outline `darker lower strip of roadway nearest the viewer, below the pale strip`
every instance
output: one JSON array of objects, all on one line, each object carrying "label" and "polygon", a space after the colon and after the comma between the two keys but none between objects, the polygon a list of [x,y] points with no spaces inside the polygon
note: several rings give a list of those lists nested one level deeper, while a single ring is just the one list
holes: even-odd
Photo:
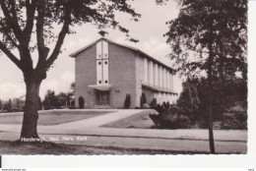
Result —
[{"label": "darker lower strip of roadway nearest the viewer, below the pale strip", "polygon": [[[1,133],[0,140],[17,141],[20,137],[18,133]],[[51,139],[59,140],[56,143],[78,144],[88,146],[112,146],[120,148],[133,149],[153,149],[153,150],[169,150],[179,152],[209,152],[208,141],[195,140],[168,140],[168,139],[153,139],[153,138],[129,138],[129,137],[104,137],[104,136],[71,136],[71,135],[41,135],[45,141]],[[86,138],[86,139],[84,139]],[[84,139],[82,141],[78,141]],[[51,141],[50,141],[51,142]],[[246,142],[215,142],[216,152],[218,153],[246,153]]]}]

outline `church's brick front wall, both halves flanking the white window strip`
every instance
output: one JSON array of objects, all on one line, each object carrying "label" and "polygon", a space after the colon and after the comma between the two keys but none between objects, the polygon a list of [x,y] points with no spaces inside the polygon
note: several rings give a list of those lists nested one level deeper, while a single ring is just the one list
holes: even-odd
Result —
[{"label": "church's brick front wall, both halves flanking the white window strip", "polygon": [[[126,93],[131,95],[131,108],[136,104],[135,54],[132,50],[108,43],[108,72],[110,88],[110,107],[124,108]],[[96,90],[88,85],[96,85],[96,44],[76,57],[76,107],[78,98],[83,96],[86,108],[94,108]]]}]

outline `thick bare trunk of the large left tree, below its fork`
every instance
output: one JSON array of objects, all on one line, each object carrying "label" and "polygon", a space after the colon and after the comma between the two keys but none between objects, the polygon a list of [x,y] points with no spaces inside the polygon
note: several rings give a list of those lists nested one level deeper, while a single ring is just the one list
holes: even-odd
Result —
[{"label": "thick bare trunk of the large left tree, below its fork", "polygon": [[38,100],[39,100],[39,86],[41,81],[37,79],[30,79],[26,82],[27,93],[25,102],[25,111],[22,126],[22,139],[37,139],[37,120],[38,120]]}]

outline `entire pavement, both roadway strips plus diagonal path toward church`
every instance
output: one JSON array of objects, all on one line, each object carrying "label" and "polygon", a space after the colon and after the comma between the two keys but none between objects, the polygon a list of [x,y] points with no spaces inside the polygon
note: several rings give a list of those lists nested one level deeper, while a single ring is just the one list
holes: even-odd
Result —
[{"label": "entire pavement, both roadway strips plus diagonal path toward church", "polygon": [[[61,143],[92,146],[117,146],[123,148],[162,149],[175,151],[209,151],[208,130],[155,130],[102,128],[101,125],[136,115],[142,110],[117,110],[112,113],[80,121],[38,126],[40,137],[58,137]],[[1,133],[2,132],[2,133]],[[0,124],[0,140],[18,140],[21,126]],[[12,134],[10,134],[12,133]],[[67,141],[63,137],[76,140],[86,136],[87,141]],[[246,153],[247,131],[215,130],[217,152]]]}]

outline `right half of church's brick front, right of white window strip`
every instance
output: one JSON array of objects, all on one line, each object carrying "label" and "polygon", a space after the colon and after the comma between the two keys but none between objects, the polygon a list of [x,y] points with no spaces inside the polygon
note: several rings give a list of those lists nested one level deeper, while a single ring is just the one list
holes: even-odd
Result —
[{"label": "right half of church's brick front, right of white window strip", "polygon": [[112,43],[108,44],[110,105],[124,108],[126,93],[131,95],[131,108],[135,107],[135,54],[132,50]]}]

